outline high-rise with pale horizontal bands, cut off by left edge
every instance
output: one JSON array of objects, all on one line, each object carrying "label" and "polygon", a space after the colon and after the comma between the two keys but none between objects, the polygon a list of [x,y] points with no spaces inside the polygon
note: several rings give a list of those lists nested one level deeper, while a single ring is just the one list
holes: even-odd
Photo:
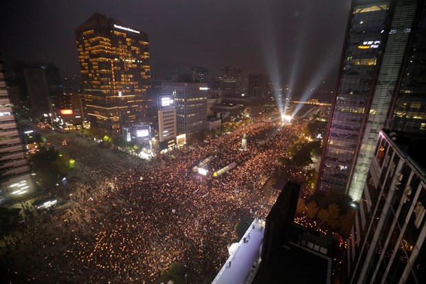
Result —
[{"label": "high-rise with pale horizontal bands, cut off by left edge", "polygon": [[12,107],[0,58],[0,203],[34,192],[30,165]]}]

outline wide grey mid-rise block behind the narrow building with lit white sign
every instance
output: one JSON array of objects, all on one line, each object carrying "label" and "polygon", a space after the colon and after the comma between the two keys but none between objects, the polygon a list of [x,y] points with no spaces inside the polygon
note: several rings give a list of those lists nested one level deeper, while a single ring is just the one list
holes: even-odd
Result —
[{"label": "wide grey mid-rise block behind the narrow building with lit white sign", "polygon": [[201,133],[207,125],[207,92],[205,83],[164,82],[165,96],[175,98],[177,134]]}]

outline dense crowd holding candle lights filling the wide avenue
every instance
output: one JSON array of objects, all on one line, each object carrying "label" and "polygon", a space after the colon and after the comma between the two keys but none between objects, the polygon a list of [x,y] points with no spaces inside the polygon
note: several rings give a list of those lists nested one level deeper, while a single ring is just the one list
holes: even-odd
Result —
[{"label": "dense crowd holding candle lights filling the wide avenue", "polygon": [[[181,262],[188,283],[199,283],[227,259],[227,247],[237,241],[238,221],[267,216],[271,204],[259,189],[301,132],[299,124],[278,127],[258,121],[195,149],[129,168],[98,182],[97,188],[81,186],[74,213],[28,230],[33,247],[25,258],[34,270],[29,278],[152,283],[172,263]],[[247,150],[240,151],[244,133]],[[232,162],[238,166],[221,177],[192,171],[210,156],[214,171]],[[289,174],[301,178],[297,172]],[[55,223],[58,219],[63,223]],[[56,224],[53,230],[49,222]]]}]

